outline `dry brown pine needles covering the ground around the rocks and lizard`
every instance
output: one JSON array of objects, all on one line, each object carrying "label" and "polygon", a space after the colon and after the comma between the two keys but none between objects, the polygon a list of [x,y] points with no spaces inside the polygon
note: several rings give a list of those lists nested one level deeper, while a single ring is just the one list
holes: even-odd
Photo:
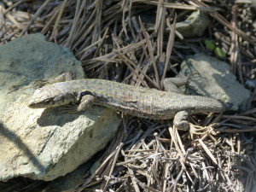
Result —
[{"label": "dry brown pine needles covering the ground around the rocks and lizard", "polygon": [[[0,44],[41,32],[49,41],[71,49],[90,78],[161,90],[166,74],[177,74],[181,61],[195,50],[207,52],[202,42],[211,39],[227,52],[224,59],[242,84],[255,79],[256,28],[245,3],[3,2],[9,6],[4,9],[0,4]],[[203,38],[183,38],[175,32],[175,23],[196,9],[211,16],[211,26]],[[154,31],[149,32],[146,23],[152,15]],[[166,28],[171,32],[166,33]],[[171,121],[124,117],[119,135],[97,159],[101,166],[93,175],[84,173],[84,184],[76,190],[251,190],[256,171],[256,89],[248,88],[252,96],[246,112],[190,117],[189,132],[173,129]],[[17,186],[17,190],[26,191],[28,184]],[[30,189],[37,187],[30,183]]]}]

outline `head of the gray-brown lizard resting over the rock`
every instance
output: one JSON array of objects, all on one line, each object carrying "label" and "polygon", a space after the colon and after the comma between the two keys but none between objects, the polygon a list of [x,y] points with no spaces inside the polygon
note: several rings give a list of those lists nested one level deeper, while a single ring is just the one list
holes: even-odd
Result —
[{"label": "head of the gray-brown lizard resting over the rock", "polygon": [[51,85],[46,85],[35,90],[31,101],[28,103],[28,107],[54,108],[74,101],[76,101],[76,97],[73,93],[63,92],[61,90],[54,89]]}]

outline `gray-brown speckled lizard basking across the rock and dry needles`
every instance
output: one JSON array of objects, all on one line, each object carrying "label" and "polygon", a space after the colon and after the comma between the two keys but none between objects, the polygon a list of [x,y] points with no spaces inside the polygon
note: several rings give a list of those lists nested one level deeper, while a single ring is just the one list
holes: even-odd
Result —
[{"label": "gray-brown speckled lizard basking across the rock and dry needles", "polygon": [[136,87],[104,79],[77,79],[47,84],[35,90],[28,107],[53,108],[70,103],[78,105],[77,112],[96,104],[141,118],[174,118],[175,125],[182,130],[189,129],[186,120],[188,114],[221,113],[230,108],[230,103],[211,97]]}]

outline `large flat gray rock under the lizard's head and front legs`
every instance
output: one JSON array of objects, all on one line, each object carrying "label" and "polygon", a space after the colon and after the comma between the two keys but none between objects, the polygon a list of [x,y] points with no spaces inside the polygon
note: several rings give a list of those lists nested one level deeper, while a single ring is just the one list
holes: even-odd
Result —
[{"label": "large flat gray rock under the lizard's head and front legs", "polygon": [[45,181],[64,176],[104,148],[120,119],[108,108],[93,106],[84,113],[61,108],[27,107],[36,79],[83,69],[72,53],[40,34],[0,46],[0,180],[30,177]]}]

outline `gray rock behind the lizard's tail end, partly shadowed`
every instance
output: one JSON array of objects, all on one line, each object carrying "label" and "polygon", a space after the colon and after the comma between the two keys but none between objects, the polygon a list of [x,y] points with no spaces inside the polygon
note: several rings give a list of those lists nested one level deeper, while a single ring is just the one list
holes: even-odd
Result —
[{"label": "gray rock behind the lizard's tail end, partly shadowed", "polygon": [[[188,87],[196,95],[210,96],[223,102],[231,102],[232,109],[244,109],[251,94],[230,73],[230,66],[215,57],[196,54],[182,63],[181,73],[189,76]],[[191,93],[191,92],[190,92]]]}]

